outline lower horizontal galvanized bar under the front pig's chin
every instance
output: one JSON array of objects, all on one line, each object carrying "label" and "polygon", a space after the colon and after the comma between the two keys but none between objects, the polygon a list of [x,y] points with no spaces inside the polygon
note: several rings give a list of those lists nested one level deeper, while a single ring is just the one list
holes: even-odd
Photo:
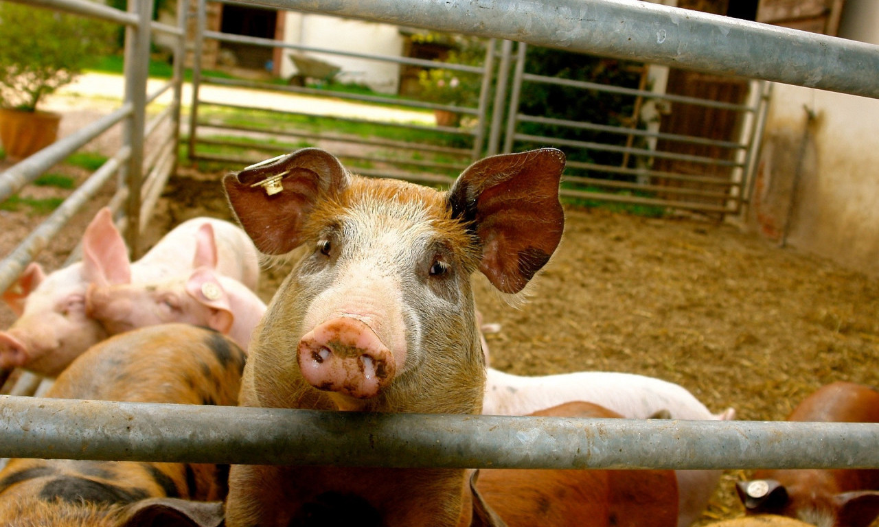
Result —
[{"label": "lower horizontal galvanized bar under the front pig's chin", "polygon": [[[710,438],[710,440],[708,439]],[[492,468],[879,467],[879,423],[319,412],[0,396],[0,456]]]}]

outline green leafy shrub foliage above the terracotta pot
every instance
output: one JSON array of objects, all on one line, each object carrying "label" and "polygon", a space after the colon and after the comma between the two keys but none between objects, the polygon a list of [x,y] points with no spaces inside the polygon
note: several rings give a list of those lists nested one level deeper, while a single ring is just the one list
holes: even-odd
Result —
[{"label": "green leafy shrub foliage above the terracotta pot", "polygon": [[0,105],[33,112],[109,49],[113,25],[28,4],[0,2]]}]

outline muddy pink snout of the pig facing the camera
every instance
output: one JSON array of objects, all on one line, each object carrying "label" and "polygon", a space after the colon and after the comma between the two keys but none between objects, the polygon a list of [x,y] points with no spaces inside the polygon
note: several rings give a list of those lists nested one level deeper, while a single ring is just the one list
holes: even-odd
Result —
[{"label": "muddy pink snout of the pig facing the camera", "polygon": [[299,341],[299,368],[311,386],[368,399],[396,372],[391,351],[365,322],[350,317],[325,321]]}]

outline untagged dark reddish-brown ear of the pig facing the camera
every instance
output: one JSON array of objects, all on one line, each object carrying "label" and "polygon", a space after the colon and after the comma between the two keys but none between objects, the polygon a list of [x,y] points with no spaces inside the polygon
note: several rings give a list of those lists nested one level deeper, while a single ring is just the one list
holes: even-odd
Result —
[{"label": "untagged dark reddish-brown ear of the pig facing the camera", "polygon": [[521,291],[562,239],[563,170],[564,154],[556,148],[492,155],[465,169],[449,191],[453,216],[482,245],[479,271],[500,292]]}]

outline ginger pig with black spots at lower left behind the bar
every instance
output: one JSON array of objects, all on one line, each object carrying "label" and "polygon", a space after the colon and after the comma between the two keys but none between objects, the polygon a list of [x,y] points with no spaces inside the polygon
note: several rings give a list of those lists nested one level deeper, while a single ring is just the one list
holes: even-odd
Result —
[{"label": "ginger pig with black spots at lower left behind the bar", "polygon": [[[215,331],[143,328],[92,347],[46,396],[234,406],[243,366],[243,351]],[[11,459],[0,471],[0,525],[214,527],[189,518],[222,516],[227,476],[228,466],[207,464]]]}]

